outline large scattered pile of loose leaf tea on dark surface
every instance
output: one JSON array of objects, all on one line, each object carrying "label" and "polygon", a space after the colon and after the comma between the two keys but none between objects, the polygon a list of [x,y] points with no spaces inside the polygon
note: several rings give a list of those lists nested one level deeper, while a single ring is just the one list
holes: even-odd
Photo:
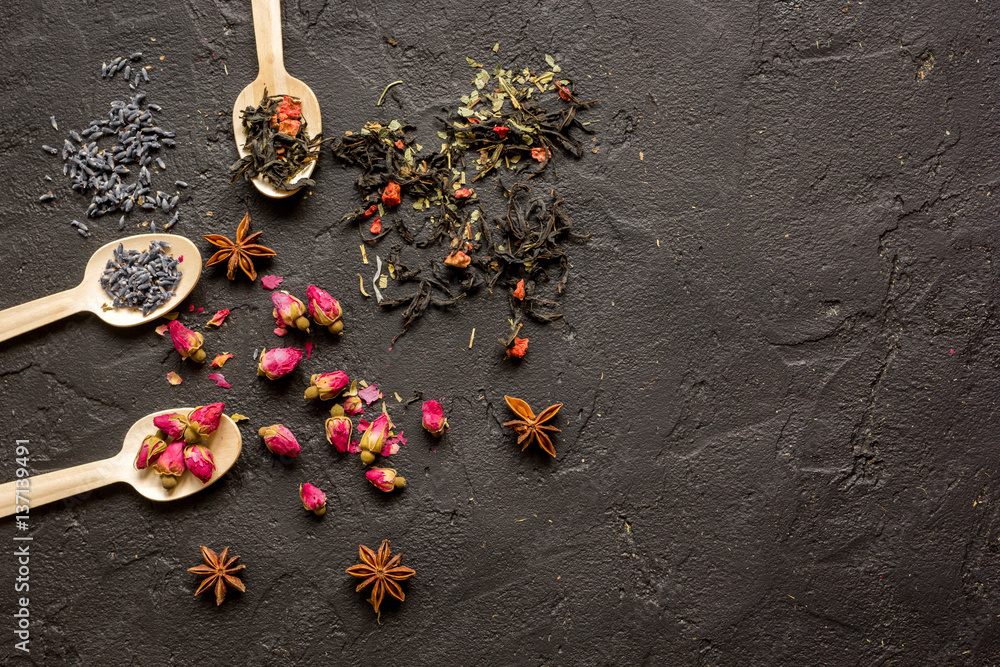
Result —
[{"label": "large scattered pile of loose leaf tea on dark surface", "polygon": [[[529,186],[527,181],[543,176],[550,165],[554,173],[560,153],[583,156],[576,135],[590,130],[578,114],[594,102],[577,99],[572,83],[557,79],[560,69],[551,56],[546,60],[550,70],[538,74],[499,66],[490,73],[470,59],[477,70],[474,89],[439,118],[437,135],[443,143],[437,151],[424,153],[414,138],[416,128],[397,120],[345,132],[333,146],[335,157],[361,170],[355,184],[363,206],[342,220],[357,224],[365,243],[392,231],[402,241],[386,254],[388,273],[414,289],[386,299],[376,291],[381,306],[404,306],[400,335],[428,307],[454,304],[483,285],[510,290],[511,328],[500,339],[509,356],[523,356],[527,349],[527,339],[517,338],[524,316],[539,322],[561,317],[553,310],[556,302],[540,292],[555,279],[552,297],[562,293],[570,264],[561,243],[588,237],[572,231],[563,201],[551,186]],[[470,167],[477,172],[471,177]],[[501,169],[520,180],[507,189]],[[487,175],[507,199],[502,215],[490,217],[470,187]],[[415,228],[401,215],[392,224],[383,221],[404,197],[412,200],[413,210],[424,213]],[[377,256],[379,267],[381,259]],[[375,278],[382,278],[385,289],[387,281],[380,274],[381,268]]]}]

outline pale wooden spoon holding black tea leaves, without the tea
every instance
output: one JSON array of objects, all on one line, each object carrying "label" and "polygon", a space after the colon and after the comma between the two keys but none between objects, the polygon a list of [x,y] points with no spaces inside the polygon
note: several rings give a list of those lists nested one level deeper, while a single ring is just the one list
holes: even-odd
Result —
[{"label": "pale wooden spoon holding black tea leaves, without the tea", "polygon": [[[281,47],[280,0],[253,0],[253,30],[257,37],[257,78],[243,89],[233,105],[233,133],[236,135],[236,148],[241,157],[248,155],[249,151],[245,149],[246,135],[243,133],[240,113],[247,107],[256,108],[264,97],[265,88],[268,95],[290,95],[301,99],[302,117],[308,124],[309,136],[315,137],[323,131],[319,101],[315,93],[305,83],[285,71],[284,53]],[[289,183],[294,185],[303,178],[309,178],[315,166],[316,160],[313,160],[293,176]],[[261,176],[253,179],[253,184],[261,194],[276,199],[290,197],[300,189],[279,190]]]}]

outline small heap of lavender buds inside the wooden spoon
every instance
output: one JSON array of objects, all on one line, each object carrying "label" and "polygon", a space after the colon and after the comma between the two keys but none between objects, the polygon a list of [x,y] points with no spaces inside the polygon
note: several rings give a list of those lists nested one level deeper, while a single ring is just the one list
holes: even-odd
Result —
[{"label": "small heap of lavender buds inside the wooden spoon", "polygon": [[139,252],[118,244],[101,275],[101,287],[115,308],[142,310],[145,317],[176,293],[181,272],[178,261],[164,252],[169,247],[166,241],[153,241]]}]

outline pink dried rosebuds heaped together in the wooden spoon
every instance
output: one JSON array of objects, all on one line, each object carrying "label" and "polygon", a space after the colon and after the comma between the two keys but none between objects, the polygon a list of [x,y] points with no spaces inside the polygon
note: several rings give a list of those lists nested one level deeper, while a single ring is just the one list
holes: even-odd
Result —
[{"label": "pink dried rosebuds heaped together in the wooden spoon", "polygon": [[152,468],[165,489],[172,489],[184,471],[207,484],[215,459],[205,439],[219,428],[225,403],[200,405],[191,412],[170,412],[153,418],[156,433],[147,435],[135,457],[136,470]]}]

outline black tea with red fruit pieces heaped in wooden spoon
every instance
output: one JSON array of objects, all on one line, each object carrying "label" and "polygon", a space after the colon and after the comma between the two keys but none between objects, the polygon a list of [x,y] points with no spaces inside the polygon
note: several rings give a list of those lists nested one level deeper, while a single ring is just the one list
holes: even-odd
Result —
[{"label": "black tea with red fruit pieces heaped in wooden spoon", "polygon": [[289,183],[316,160],[322,143],[322,135],[309,136],[301,100],[288,95],[269,96],[265,90],[260,104],[247,107],[240,117],[246,135],[244,148],[249,152],[229,168],[234,172],[230,183],[261,176],[279,190],[315,185],[309,178]]}]

